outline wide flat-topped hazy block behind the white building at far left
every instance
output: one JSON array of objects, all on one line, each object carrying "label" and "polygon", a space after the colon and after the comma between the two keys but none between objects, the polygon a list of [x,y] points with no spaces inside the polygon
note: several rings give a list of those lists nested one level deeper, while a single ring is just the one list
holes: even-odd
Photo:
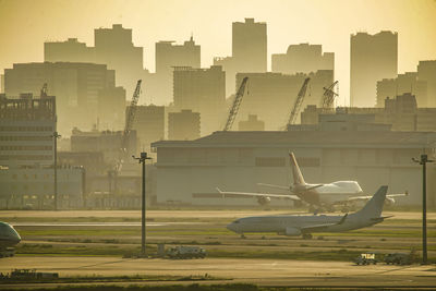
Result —
[{"label": "wide flat-topped hazy block behind the white building at far left", "polygon": [[[97,123],[102,100],[99,93],[114,88],[114,71],[106,64],[74,62],[15,63],[4,70],[4,92],[39,95],[47,83],[48,93],[57,97],[58,130],[65,134],[73,126],[90,129]],[[117,109],[114,109],[117,111]]]}]

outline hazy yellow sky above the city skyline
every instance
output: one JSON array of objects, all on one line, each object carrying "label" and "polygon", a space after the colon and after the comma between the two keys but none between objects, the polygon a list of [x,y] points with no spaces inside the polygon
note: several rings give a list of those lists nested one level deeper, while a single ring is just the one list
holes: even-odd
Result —
[{"label": "hazy yellow sky above the city skyline", "polygon": [[94,46],[94,28],[121,23],[144,47],[144,65],[155,70],[157,40],[182,43],[193,33],[202,65],[231,54],[231,23],[267,23],[270,53],[291,44],[323,45],[336,53],[341,99],[349,96],[350,34],[399,33],[399,72],[436,59],[435,0],[0,0],[0,72],[15,62],[43,61],[45,40],[76,37]]}]

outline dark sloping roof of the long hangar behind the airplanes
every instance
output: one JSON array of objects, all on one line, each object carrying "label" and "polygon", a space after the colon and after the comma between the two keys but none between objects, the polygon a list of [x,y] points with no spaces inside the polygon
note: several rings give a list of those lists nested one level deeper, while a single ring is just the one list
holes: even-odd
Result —
[{"label": "dark sloping roof of the long hangar behind the airplanes", "polygon": [[258,131],[214,132],[194,141],[159,141],[152,147],[434,147],[435,132]]}]

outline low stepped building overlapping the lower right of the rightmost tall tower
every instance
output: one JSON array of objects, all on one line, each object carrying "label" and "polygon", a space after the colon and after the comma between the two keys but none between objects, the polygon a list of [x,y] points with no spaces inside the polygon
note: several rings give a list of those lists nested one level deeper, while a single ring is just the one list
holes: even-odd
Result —
[{"label": "low stepped building overlapping the lower right of the rightmost tall tower", "polygon": [[407,72],[396,78],[384,78],[377,82],[377,107],[385,107],[386,98],[411,93],[416,97],[419,107],[427,105],[427,83],[417,80],[417,73]]}]

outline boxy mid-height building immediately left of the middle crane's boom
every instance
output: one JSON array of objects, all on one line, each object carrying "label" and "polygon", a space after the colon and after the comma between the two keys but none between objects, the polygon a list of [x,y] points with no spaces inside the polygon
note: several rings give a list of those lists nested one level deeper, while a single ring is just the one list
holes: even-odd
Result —
[{"label": "boxy mid-height building immediately left of the middle crane's boom", "polygon": [[220,129],[226,112],[226,73],[210,69],[174,68],[174,109],[190,109],[202,117],[202,135]]}]

